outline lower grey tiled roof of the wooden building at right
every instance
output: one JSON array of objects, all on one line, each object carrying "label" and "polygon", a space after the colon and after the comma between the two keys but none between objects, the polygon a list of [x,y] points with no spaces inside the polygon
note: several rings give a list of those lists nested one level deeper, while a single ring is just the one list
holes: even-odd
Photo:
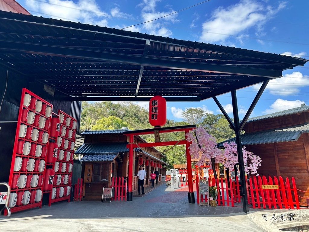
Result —
[{"label": "lower grey tiled roof of the wooden building at right", "polygon": [[[300,125],[295,125],[292,127],[282,127],[273,130],[259,131],[254,133],[245,133],[240,135],[241,143],[243,145],[253,145],[253,144],[269,144],[278,142],[291,142],[297,141],[301,134],[309,133],[309,123],[304,123]],[[223,147],[225,142],[235,142],[236,139],[232,138],[223,141],[218,144],[218,147]]]}]

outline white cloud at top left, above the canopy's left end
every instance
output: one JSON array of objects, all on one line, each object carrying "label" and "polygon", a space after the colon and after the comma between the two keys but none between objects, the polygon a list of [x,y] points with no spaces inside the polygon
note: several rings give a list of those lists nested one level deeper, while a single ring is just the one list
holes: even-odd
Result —
[{"label": "white cloud at top left, above the canopy's left end", "polygon": [[[26,0],[28,11],[40,12],[53,19],[64,19],[84,24],[108,26],[110,15],[100,10],[95,0],[79,0],[76,3],[66,0]],[[40,14],[35,13],[33,14]]]}]

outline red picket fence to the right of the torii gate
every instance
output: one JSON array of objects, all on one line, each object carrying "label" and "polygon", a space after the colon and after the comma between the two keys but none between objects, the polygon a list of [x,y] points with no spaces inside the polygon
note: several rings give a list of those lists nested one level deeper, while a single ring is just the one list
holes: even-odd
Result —
[{"label": "red picket fence to the right of the torii gate", "polygon": [[[231,178],[229,180],[227,178],[209,178],[208,184],[209,186],[217,186],[218,205],[235,206],[234,203],[241,202],[241,186],[237,176],[235,182]],[[262,188],[262,185],[278,185],[278,189],[265,189]],[[246,191],[248,204],[252,204],[253,208],[299,209],[294,177],[292,177],[292,183],[290,184],[289,178],[286,178],[286,181],[284,181],[281,176],[279,176],[279,180],[277,177],[272,179],[269,176],[267,180],[265,176],[254,176],[249,179],[249,185],[248,182],[246,183]],[[197,196],[199,196],[198,183]],[[207,202],[207,200],[206,195],[201,195],[202,202]],[[199,197],[197,197],[197,204],[199,204]]]}]

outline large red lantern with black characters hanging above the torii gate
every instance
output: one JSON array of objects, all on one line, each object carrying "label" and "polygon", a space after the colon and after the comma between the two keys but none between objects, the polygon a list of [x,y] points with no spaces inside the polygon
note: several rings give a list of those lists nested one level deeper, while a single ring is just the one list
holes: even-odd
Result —
[{"label": "large red lantern with black characters hanging above the torii gate", "polygon": [[164,97],[155,96],[149,101],[149,123],[154,127],[162,127],[166,123],[166,101]]}]

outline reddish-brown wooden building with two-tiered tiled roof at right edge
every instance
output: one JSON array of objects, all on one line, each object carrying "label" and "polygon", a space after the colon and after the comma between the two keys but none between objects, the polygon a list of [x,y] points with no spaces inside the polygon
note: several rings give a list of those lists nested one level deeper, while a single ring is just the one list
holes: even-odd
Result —
[{"label": "reddish-brown wooden building with two-tiered tiled roof at right edge", "polygon": [[[309,106],[249,118],[241,142],[261,157],[259,175],[295,178],[299,202],[309,199]],[[227,142],[235,141],[235,138]],[[226,141],[224,141],[226,142]],[[222,143],[224,143],[222,142]],[[222,143],[218,146],[222,146]],[[307,192],[306,192],[307,191]]]}]

